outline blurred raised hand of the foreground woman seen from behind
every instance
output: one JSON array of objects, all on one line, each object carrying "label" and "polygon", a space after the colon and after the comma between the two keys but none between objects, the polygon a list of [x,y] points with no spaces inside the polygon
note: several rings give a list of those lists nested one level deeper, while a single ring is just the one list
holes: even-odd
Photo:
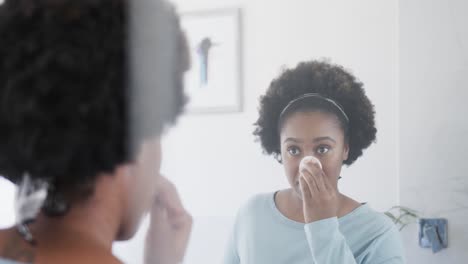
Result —
[{"label": "blurred raised hand of the foreground woman seen from behind", "polygon": [[150,215],[145,263],[182,263],[192,230],[192,217],[184,209],[174,184],[163,176],[160,176]]}]

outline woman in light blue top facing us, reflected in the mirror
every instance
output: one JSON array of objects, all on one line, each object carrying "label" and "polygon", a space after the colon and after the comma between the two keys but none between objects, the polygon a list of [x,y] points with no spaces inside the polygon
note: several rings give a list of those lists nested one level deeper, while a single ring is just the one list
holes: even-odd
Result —
[{"label": "woman in light blue top facing us, reflected in the mirror", "polygon": [[254,134],[291,188],[241,208],[225,264],[404,263],[393,223],[337,187],[343,164],[376,134],[374,107],[355,77],[320,61],[286,70],[261,98]]}]

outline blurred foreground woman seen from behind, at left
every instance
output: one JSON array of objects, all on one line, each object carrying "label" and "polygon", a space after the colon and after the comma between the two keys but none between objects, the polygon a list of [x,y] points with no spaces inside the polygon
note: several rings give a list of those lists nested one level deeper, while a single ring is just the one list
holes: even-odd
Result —
[{"label": "blurred foreground woman seen from behind, at left", "polygon": [[149,210],[147,262],[182,259],[191,218],[158,171],[160,134],[184,104],[187,51],[173,9],[159,3],[176,29],[162,37],[185,55],[171,58],[175,85],[158,86],[175,103],[130,139],[127,3],[0,5],[0,174],[21,190],[17,225],[0,230],[0,263],[120,263],[112,242],[132,237]]}]

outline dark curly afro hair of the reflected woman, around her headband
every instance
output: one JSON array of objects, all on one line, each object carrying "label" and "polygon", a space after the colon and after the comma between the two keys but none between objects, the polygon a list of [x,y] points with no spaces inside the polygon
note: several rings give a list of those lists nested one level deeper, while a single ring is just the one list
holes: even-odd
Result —
[{"label": "dark curly afro hair of the reflected woman, around her headband", "polygon": [[[349,118],[347,122],[337,107],[329,104],[314,104],[303,100],[280,114],[292,100],[307,94],[318,93],[337,102]],[[274,79],[260,98],[259,118],[255,123],[254,135],[260,141],[266,154],[281,160],[280,129],[282,121],[294,112],[325,111],[335,114],[343,128],[349,144],[348,159],[343,163],[351,165],[376,140],[375,110],[367,98],[363,84],[342,66],[326,61],[299,63],[287,69]],[[281,161],[280,161],[281,162]]]}]

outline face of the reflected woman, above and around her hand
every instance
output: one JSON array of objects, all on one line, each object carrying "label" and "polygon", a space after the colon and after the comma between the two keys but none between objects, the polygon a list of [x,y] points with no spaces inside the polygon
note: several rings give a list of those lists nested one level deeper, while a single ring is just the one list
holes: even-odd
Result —
[{"label": "face of the reflected woman, above and around her hand", "polygon": [[349,147],[338,118],[324,112],[296,112],[283,123],[280,131],[281,158],[288,182],[302,198],[299,188],[299,163],[305,156],[314,156],[335,185]]}]

